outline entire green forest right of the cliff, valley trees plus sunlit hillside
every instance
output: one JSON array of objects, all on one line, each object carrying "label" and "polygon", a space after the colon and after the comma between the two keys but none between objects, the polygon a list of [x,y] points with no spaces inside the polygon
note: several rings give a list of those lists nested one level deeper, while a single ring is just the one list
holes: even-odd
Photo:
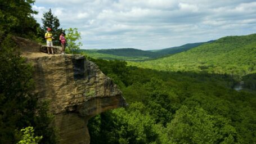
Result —
[{"label": "entire green forest right of the cliff, valley trees plus sunlit hillside", "polygon": [[256,143],[255,42],[224,37],[128,65],[92,59],[129,104],[91,120],[92,143]]}]

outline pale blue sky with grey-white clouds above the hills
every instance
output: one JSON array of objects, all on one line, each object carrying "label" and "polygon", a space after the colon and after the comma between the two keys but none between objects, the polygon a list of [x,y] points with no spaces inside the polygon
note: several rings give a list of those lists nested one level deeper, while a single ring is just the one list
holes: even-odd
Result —
[{"label": "pale blue sky with grey-white clouds above the hills", "polygon": [[60,28],[78,28],[81,49],[158,50],[256,33],[255,0],[36,0],[41,25],[50,8]]}]

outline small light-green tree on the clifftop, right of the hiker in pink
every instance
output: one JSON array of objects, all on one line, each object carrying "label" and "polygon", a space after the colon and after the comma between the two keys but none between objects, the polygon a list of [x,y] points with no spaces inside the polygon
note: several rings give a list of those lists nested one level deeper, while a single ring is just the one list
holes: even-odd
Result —
[{"label": "small light-green tree on the clifftop, right of the hiker in pink", "polygon": [[83,44],[81,42],[77,42],[81,39],[81,33],[78,32],[77,28],[69,28],[66,29],[66,52],[73,52],[73,50],[79,50]]}]

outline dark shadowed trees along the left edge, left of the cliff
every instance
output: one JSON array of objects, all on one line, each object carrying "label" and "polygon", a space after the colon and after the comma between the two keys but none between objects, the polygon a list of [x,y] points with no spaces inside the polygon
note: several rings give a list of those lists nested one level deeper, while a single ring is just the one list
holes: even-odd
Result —
[{"label": "dark shadowed trees along the left edge, left of the cliff", "polygon": [[[32,16],[34,1],[0,1],[0,143],[56,143],[48,102],[38,104],[33,67],[12,37],[41,41],[44,29]],[[57,23],[56,23],[57,25]],[[25,138],[25,139],[24,139]]]}]

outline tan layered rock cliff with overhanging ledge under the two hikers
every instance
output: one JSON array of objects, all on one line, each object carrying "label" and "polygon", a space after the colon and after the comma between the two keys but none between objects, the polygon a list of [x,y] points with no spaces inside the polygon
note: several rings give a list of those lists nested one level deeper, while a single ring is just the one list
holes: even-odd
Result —
[{"label": "tan layered rock cliff with overhanging ledge under the two hikers", "polygon": [[49,101],[60,143],[89,143],[92,116],[125,106],[122,92],[98,66],[81,55],[47,55],[40,45],[14,38],[34,66],[35,93]]}]

